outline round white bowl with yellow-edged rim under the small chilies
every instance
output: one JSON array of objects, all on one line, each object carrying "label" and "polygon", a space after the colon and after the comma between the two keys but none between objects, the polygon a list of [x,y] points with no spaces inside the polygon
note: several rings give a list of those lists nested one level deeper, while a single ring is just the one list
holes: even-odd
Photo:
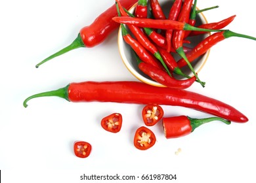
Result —
[{"label": "round white bowl with yellow-edged rim under the small chilies", "polygon": [[[160,5],[163,8],[163,12],[165,12],[165,14],[168,14],[169,9],[171,8],[171,5],[173,5],[173,1],[171,1],[171,3],[170,3],[170,1],[160,1]],[[129,12],[131,12],[133,14],[136,6],[137,6],[137,3],[129,9]],[[206,20],[205,16],[202,14],[202,12],[197,14],[196,22],[197,22],[196,25],[207,23],[207,20]],[[210,33],[206,33],[204,35],[198,35],[198,36],[188,38],[188,40],[190,41],[190,44],[187,44],[187,46],[193,48],[194,46],[196,46],[196,44],[198,44],[200,41],[205,39],[205,37],[209,36],[209,34]],[[118,43],[119,54],[121,56],[121,59],[122,59],[123,63],[125,64],[125,66],[127,67],[127,69],[129,70],[129,72],[131,74],[133,74],[133,76],[135,76],[140,81],[145,82],[146,84],[150,84],[152,86],[165,87],[162,84],[152,80],[151,78],[146,76],[144,73],[142,73],[142,71],[140,71],[140,69],[137,65],[137,59],[135,58],[135,55],[134,55],[134,52],[133,52],[131,46],[129,46],[129,44],[127,44],[123,40],[122,33],[121,33],[121,27],[119,27],[117,43]],[[186,44],[184,44],[184,45],[186,45]],[[210,50],[208,50],[205,54],[203,54],[203,56],[201,56],[200,58],[198,58],[192,62],[192,66],[193,66],[194,70],[196,71],[196,73],[199,73],[201,71],[201,69],[203,68],[203,65],[205,64],[205,62],[207,61],[207,58],[209,56],[209,52],[210,52]],[[177,54],[173,54],[173,56],[174,56],[175,60],[178,60],[180,58],[180,56],[178,56]],[[183,73],[186,73],[186,75],[193,76],[193,73],[190,71],[190,69],[188,67],[182,67],[182,71],[183,71]],[[175,75],[175,78],[182,79],[183,77]]]}]

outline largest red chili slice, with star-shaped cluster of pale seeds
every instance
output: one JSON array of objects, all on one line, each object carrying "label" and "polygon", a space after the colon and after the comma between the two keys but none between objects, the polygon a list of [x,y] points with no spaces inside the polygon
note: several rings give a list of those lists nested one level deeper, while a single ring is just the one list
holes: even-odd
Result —
[{"label": "largest red chili slice, with star-shaped cluster of pale seeds", "polygon": [[147,150],[156,143],[156,135],[147,127],[139,127],[135,132],[133,144],[139,150]]}]

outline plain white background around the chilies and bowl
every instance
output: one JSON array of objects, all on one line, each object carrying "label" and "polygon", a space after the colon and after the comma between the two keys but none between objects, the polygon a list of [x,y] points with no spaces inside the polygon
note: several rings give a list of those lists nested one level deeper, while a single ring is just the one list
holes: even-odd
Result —
[{"label": "plain white background around the chilies and bowl", "polygon": [[[42,59],[72,42],[81,27],[113,5],[113,1],[31,1],[0,3],[0,169],[4,182],[81,182],[83,175],[176,174],[173,182],[255,182],[255,46],[230,38],[211,49],[200,71],[205,88],[188,90],[219,99],[243,112],[249,122],[225,125],[212,122],[179,139],[165,139],[161,123],[150,127],[158,141],[146,151],[133,146],[133,135],[143,125],[142,105],[69,103],[57,97],[26,97],[66,86],[70,82],[137,80],[123,65],[117,31],[95,48],[79,48],[41,65]],[[228,28],[256,37],[254,1],[198,1],[208,22],[233,14]],[[196,110],[163,106],[165,116],[205,118]],[[100,126],[102,117],[119,112],[123,127],[117,134]],[[74,141],[93,146],[89,158],[74,156]],[[177,156],[178,148],[182,152]],[[88,181],[87,181],[88,182]],[[139,182],[139,180],[131,181]],[[141,182],[141,181],[140,181]]]}]

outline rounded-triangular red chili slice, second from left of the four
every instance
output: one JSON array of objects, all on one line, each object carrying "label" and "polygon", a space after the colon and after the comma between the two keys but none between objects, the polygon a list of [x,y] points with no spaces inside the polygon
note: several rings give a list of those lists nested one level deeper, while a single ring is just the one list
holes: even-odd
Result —
[{"label": "rounded-triangular red chili slice, second from left of the four", "polygon": [[122,115],[119,113],[113,113],[102,118],[100,124],[106,131],[117,133],[121,130],[122,123]]}]

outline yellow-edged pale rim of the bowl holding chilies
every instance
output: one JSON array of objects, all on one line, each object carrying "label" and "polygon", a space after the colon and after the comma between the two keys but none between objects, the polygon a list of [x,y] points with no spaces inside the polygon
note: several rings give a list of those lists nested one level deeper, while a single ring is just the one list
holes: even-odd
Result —
[{"label": "yellow-edged pale rim of the bowl holding chilies", "polygon": [[[135,7],[137,6],[138,3],[135,3],[131,8],[129,8],[129,12],[131,12],[131,10],[135,10]],[[196,7],[197,10],[200,10],[200,8]],[[200,18],[203,20],[203,22],[205,24],[208,23],[205,15],[203,14],[203,12],[200,12],[198,14],[200,16]],[[211,35],[211,32],[207,33],[208,35]],[[131,64],[129,64],[129,61],[127,60],[127,58],[125,57],[125,53],[124,53],[124,49],[121,49],[121,40],[123,40],[123,37],[121,35],[121,25],[119,26],[119,30],[118,30],[118,33],[117,33],[117,46],[118,46],[118,50],[119,50],[119,55],[121,56],[121,60],[123,61],[123,64],[125,65],[125,67],[128,69],[128,71],[133,75],[135,76],[135,78],[137,78],[138,80],[140,80],[141,82],[144,82],[146,84],[150,84],[152,86],[158,86],[158,87],[166,87],[164,86],[163,84],[160,84],[154,80],[151,80],[149,78],[146,78],[142,75],[140,75],[140,73],[138,73],[132,66]],[[122,47],[123,48],[123,47]],[[198,69],[196,69],[196,73],[199,73],[203,66],[205,65],[207,59],[209,58],[209,53],[210,53],[210,50],[207,50],[207,52],[205,52],[205,54],[203,54],[203,57],[201,58],[203,61],[202,61],[202,64],[200,65],[200,67]],[[193,76],[193,75],[192,75]]]}]

